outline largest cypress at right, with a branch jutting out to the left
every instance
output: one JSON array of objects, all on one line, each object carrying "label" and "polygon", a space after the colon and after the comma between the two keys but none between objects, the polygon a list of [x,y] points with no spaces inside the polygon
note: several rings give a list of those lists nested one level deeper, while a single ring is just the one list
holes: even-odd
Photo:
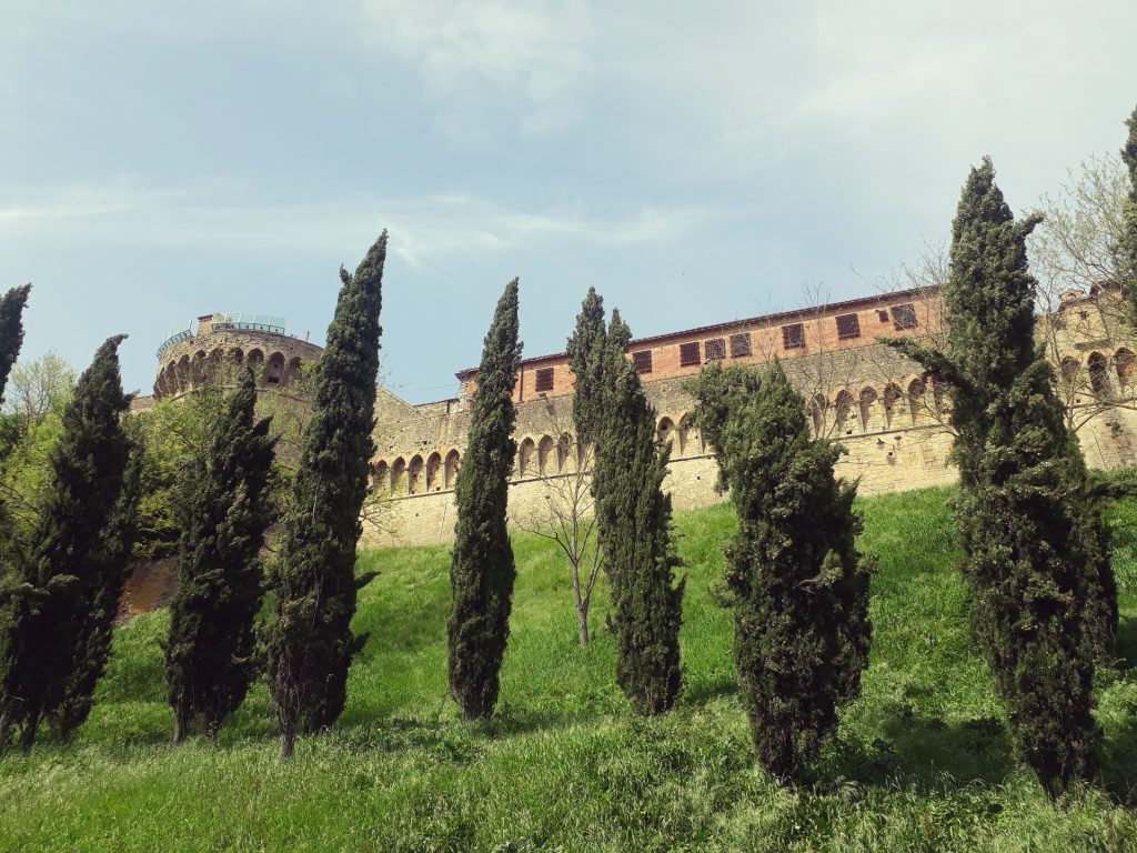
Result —
[{"label": "largest cypress at right, with a branch jutting out to the left", "polygon": [[974,632],[1019,755],[1053,796],[1096,770],[1094,656],[1112,641],[1117,588],[1085,461],[1034,340],[1026,238],[1038,221],[1014,221],[985,158],[953,224],[946,351],[891,343],[947,386]]}]

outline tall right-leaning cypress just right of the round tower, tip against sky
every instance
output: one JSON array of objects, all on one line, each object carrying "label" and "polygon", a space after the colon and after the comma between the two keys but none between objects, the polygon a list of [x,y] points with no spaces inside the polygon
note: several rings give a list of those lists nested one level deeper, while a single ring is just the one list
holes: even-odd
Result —
[{"label": "tall right-leaning cypress just right of the round tower, tip against sky", "polygon": [[339,300],[316,364],[313,412],[283,521],[268,639],[268,680],[289,757],[298,730],[331,726],[347,701],[348,666],[366,637],[351,633],[359,512],[374,454],[384,231],[355,275],[340,267]]}]

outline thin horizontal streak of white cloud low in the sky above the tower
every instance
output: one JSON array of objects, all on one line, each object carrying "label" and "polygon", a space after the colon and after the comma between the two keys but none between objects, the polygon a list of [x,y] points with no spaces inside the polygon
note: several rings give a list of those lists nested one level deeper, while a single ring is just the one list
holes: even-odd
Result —
[{"label": "thin horizontal streak of white cloud low in the sky above the tower", "polygon": [[741,215],[707,206],[644,206],[623,216],[522,209],[468,196],[370,198],[294,205],[224,204],[186,188],[146,190],[122,180],[0,206],[3,239],[101,241],[208,249],[324,250],[354,247],[388,227],[391,249],[416,270],[455,256],[622,247],[673,240]]}]

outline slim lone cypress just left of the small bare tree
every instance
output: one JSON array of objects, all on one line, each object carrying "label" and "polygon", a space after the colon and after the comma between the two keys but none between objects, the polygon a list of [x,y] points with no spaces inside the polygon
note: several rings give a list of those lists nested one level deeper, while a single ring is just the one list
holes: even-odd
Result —
[{"label": "slim lone cypress just left of the small bare tree", "polygon": [[517,453],[513,387],[520,359],[514,279],[498,300],[485,334],[470,440],[455,483],[458,522],[450,562],[453,608],[447,637],[450,696],[467,720],[493,713],[509,638],[516,571],[506,530],[506,504]]}]

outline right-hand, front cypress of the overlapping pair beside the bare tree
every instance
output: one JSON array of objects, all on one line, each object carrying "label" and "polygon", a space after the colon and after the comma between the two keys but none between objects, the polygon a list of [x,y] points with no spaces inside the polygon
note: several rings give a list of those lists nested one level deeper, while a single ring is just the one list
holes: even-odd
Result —
[{"label": "right-hand, front cypress of the overlapping pair beside the bare tree", "polygon": [[612,313],[604,338],[603,397],[596,423],[592,494],[612,586],[609,623],[616,638],[616,682],[647,715],[674,705],[681,687],[679,628],[682,565],[663,492],[670,446],[656,448],[656,413],[625,351],[631,330]]}]

